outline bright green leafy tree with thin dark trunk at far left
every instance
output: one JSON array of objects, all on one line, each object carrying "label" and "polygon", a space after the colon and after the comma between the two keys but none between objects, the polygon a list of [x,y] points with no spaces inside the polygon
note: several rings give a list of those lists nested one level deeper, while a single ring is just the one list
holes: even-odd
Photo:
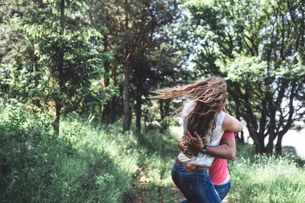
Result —
[{"label": "bright green leafy tree with thin dark trunk at far left", "polygon": [[[31,84],[25,87],[27,96],[36,92],[44,106],[55,109],[54,131],[58,135],[62,113],[104,104],[105,98],[111,97],[106,95],[115,93],[110,88],[101,92],[93,85],[104,74],[104,62],[111,55],[97,51],[103,44],[103,36],[76,17],[74,12],[82,11],[84,6],[81,1],[25,1],[15,6],[18,15],[12,15],[8,26],[17,28],[13,29],[16,35],[24,35],[22,42],[31,45],[32,54],[28,56],[27,50],[18,49],[25,59],[11,64],[16,59],[11,52],[14,42],[5,37],[10,43],[9,52],[2,58],[2,66],[8,72],[5,83],[11,87],[22,84],[16,80],[9,83],[12,73],[21,73],[21,80]],[[39,78],[34,80],[33,75]]]}]

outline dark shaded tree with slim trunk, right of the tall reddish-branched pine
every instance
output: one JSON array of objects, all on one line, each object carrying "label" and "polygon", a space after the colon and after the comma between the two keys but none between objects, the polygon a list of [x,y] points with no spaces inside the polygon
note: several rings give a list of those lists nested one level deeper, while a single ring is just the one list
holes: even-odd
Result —
[{"label": "dark shaded tree with slim trunk, right of the tall reddish-branched pine", "polygon": [[[168,31],[168,30],[167,30]],[[130,82],[134,92],[136,104],[134,106],[136,115],[136,129],[141,129],[142,104],[148,103],[151,91],[163,87],[173,87],[185,81],[182,77],[185,74],[182,69],[181,52],[174,48],[175,40],[169,39],[170,33],[163,32],[162,38],[157,38],[151,45],[148,52],[140,54],[135,62],[131,63],[133,71]],[[153,47],[155,46],[155,47]],[[136,56],[138,54],[136,53]],[[162,85],[162,86],[161,86]],[[144,98],[144,99],[143,99]],[[163,99],[160,100],[160,115],[164,118],[170,113],[172,101],[166,100],[163,105]],[[168,125],[162,123],[162,130],[167,129]]]}]

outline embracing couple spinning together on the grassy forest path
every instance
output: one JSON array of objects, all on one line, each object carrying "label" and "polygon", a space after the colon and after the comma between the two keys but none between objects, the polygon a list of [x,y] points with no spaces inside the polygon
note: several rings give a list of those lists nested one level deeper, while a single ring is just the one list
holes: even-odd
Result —
[{"label": "embracing couple spinning together on the grassy forest path", "polygon": [[181,152],[171,172],[187,199],[183,203],[220,203],[230,190],[226,159],[235,156],[233,132],[241,131],[242,124],[225,113],[226,92],[221,77],[155,91],[156,98],[188,99],[180,114],[184,125],[184,136],[178,141]]}]

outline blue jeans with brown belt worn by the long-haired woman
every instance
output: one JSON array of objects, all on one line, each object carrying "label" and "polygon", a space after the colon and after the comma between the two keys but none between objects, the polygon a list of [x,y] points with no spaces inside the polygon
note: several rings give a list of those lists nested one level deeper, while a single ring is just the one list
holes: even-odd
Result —
[{"label": "blue jeans with brown belt worn by the long-haired woman", "polygon": [[187,198],[188,203],[220,203],[220,197],[214,188],[208,170],[190,172],[176,161],[172,166],[172,179]]}]

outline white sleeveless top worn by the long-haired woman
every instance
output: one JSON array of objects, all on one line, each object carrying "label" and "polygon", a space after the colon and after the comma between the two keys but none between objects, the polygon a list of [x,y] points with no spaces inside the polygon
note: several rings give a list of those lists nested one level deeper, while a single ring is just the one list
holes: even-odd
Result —
[{"label": "white sleeveless top worn by the long-haired woman", "polygon": [[[182,109],[181,116],[183,120],[183,128],[184,128],[184,134],[187,133],[187,124],[189,120],[189,114],[192,112],[194,108],[194,101],[188,101],[184,108]],[[221,137],[223,135],[222,131],[222,123],[225,118],[225,114],[223,111],[220,112],[220,114],[217,116],[216,121],[216,128],[212,131],[212,136],[208,136],[205,141],[204,145],[206,146],[218,146],[221,140]],[[214,160],[214,157],[209,156],[207,154],[199,153],[197,157],[189,158],[187,157],[182,151],[178,155],[178,159],[185,163],[192,163],[194,165],[199,166],[210,166]]]}]

